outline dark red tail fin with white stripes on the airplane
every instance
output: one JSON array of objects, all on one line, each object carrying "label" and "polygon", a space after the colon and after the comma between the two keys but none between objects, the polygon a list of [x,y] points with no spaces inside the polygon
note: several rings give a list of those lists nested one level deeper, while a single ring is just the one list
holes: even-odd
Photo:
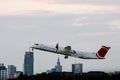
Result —
[{"label": "dark red tail fin with white stripes on the airplane", "polygon": [[96,56],[97,56],[99,59],[104,59],[106,53],[108,52],[108,50],[109,50],[110,48],[111,48],[111,47],[102,46],[102,48],[97,52]]}]

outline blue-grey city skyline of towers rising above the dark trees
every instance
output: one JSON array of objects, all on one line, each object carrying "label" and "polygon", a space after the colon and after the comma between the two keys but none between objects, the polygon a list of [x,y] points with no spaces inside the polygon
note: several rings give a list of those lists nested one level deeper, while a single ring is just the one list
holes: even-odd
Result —
[{"label": "blue-grey city skyline of towers rising above the dark trees", "polygon": [[[6,68],[6,72],[8,75],[8,78],[14,78],[15,74],[22,72],[24,75],[34,75],[36,73],[34,73],[34,60],[33,57],[34,53],[29,51],[29,52],[25,52],[24,55],[24,70],[23,71],[17,71],[17,67],[13,64],[11,65],[7,65],[8,67],[4,66],[4,63],[0,63],[0,67],[3,66],[4,68]],[[30,62],[28,62],[30,61]],[[50,70],[47,70],[46,73],[52,73],[52,72],[64,72],[62,71],[62,65],[60,64],[60,59],[58,56],[57,59],[57,64],[54,66],[54,68],[51,68]],[[1,69],[4,69],[1,68]],[[83,73],[83,64],[82,63],[73,63],[71,64],[71,71],[69,72],[73,72],[73,73]],[[44,73],[44,72],[42,72]]]}]

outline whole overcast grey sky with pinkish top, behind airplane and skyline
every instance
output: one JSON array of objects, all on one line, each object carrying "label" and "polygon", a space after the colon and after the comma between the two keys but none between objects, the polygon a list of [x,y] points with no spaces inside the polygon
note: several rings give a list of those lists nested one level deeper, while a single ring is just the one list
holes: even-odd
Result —
[{"label": "whole overcast grey sky with pinkish top, behind airplane and skyline", "polygon": [[[120,0],[0,0],[0,63],[23,70],[25,51],[43,43],[97,52],[111,50],[104,60],[59,55],[63,71],[83,63],[83,71],[120,71]],[[58,55],[34,51],[35,73],[56,65]]]}]

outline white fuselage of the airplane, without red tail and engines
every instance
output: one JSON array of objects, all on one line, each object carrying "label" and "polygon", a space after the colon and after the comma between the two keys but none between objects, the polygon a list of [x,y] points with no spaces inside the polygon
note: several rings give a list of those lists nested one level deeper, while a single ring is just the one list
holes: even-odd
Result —
[{"label": "white fuselage of the airplane, without red tail and engines", "polygon": [[71,57],[77,57],[77,58],[83,58],[83,59],[99,59],[96,56],[95,52],[82,52],[82,51],[77,51],[77,50],[70,50],[69,53],[65,54],[65,49],[63,47],[59,47],[56,49],[56,47],[53,46],[47,46],[43,44],[34,44],[31,46],[32,49],[38,49],[38,50],[43,50],[43,51],[48,51],[48,52],[53,52],[57,54],[62,54],[62,55],[67,55]]}]

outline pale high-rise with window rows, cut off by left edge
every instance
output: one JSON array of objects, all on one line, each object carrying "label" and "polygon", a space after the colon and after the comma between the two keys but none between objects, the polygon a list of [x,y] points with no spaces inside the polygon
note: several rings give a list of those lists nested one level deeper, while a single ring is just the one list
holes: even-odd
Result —
[{"label": "pale high-rise with window rows, cut off by left edge", "polygon": [[7,80],[7,68],[0,63],[0,80]]}]

